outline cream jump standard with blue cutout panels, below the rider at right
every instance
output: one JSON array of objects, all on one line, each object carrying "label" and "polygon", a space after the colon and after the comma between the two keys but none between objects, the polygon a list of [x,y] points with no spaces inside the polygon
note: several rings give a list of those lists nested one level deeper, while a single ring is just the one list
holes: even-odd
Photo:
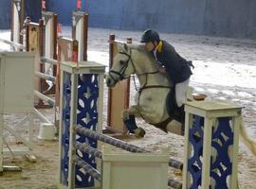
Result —
[{"label": "cream jump standard with blue cutout panels, below the rider at right", "polygon": [[224,101],[193,101],[185,112],[183,189],[237,189],[242,108]]}]

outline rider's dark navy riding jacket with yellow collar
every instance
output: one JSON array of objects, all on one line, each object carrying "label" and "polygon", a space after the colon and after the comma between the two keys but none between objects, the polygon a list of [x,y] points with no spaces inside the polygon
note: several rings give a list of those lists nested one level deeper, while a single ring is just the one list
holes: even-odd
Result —
[{"label": "rider's dark navy riding jacket with yellow collar", "polygon": [[165,66],[170,79],[176,83],[187,80],[192,75],[192,62],[182,58],[174,46],[165,41],[160,41],[156,49],[156,60]]}]

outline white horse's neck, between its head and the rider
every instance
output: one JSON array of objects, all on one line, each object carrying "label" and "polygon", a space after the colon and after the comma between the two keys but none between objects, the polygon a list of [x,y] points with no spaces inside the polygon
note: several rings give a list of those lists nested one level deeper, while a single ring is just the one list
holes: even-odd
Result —
[{"label": "white horse's neck, between its head and the rider", "polygon": [[158,62],[152,59],[148,53],[143,51],[136,51],[134,60],[137,78],[141,87],[153,85],[171,86],[168,77],[158,72]]}]

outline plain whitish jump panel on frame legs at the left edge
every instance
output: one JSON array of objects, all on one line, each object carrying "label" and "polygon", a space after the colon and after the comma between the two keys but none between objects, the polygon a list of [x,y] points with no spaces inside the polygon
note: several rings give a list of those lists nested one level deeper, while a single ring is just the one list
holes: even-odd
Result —
[{"label": "plain whitish jump panel on frame legs at the left edge", "polygon": [[[9,168],[13,170],[13,167],[4,166],[4,155],[29,155],[32,149],[34,60],[33,53],[0,53],[0,174]],[[18,128],[28,122],[27,137],[21,136],[13,127],[4,124],[6,113],[26,114],[15,127]],[[25,147],[11,148],[4,130],[21,141]]]}]

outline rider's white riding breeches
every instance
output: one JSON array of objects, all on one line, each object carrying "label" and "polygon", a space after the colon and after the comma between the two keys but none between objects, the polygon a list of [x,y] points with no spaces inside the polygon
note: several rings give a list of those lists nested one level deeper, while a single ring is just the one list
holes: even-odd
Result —
[{"label": "rider's white riding breeches", "polygon": [[187,100],[187,90],[189,83],[190,78],[181,83],[176,83],[175,85],[175,98],[178,107],[181,107]]}]

